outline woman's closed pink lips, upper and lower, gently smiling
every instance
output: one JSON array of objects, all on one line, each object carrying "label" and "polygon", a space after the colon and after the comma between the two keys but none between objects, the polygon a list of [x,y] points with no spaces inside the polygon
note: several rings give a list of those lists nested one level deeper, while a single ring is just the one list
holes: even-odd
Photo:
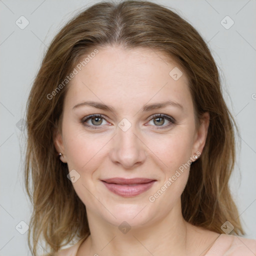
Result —
[{"label": "woman's closed pink lips, upper and lower, gently smiling", "polygon": [[111,192],[122,197],[133,197],[148,190],[155,179],[149,178],[108,178],[101,180]]}]

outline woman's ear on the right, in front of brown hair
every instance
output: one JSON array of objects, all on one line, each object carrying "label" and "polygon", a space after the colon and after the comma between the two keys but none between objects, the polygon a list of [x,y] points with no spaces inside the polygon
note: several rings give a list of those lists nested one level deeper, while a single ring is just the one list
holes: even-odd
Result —
[{"label": "woman's ear on the right, in front of brown hair", "polygon": [[210,115],[208,112],[204,112],[200,117],[200,126],[194,135],[193,148],[191,152],[192,155],[197,151],[201,153],[203,150],[208,133],[209,119]]}]

